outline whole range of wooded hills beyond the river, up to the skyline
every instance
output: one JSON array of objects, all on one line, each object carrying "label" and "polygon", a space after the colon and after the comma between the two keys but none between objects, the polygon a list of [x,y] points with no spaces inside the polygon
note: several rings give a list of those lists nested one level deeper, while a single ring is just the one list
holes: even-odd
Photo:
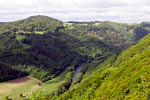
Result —
[{"label": "whole range of wooded hills beyond the river, up to the skyline", "polygon": [[42,81],[136,43],[150,23],[64,23],[48,16],[0,24],[0,61]]}]

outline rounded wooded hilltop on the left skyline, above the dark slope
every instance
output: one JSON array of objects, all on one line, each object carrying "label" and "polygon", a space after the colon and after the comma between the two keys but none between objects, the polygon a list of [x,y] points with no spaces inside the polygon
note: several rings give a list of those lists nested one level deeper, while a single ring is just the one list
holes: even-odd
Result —
[{"label": "rounded wooded hilltop on the left skyline, above the dark slope", "polygon": [[62,22],[48,17],[48,16],[31,16],[27,19],[8,22],[0,25],[0,33],[13,31],[13,32],[43,32],[43,31],[52,31],[54,32],[57,28],[62,27]]}]

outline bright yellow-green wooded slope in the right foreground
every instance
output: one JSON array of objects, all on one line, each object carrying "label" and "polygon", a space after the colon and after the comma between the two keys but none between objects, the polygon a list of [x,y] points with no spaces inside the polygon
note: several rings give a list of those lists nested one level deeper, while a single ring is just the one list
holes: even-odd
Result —
[{"label": "bright yellow-green wooded slope in the right foreground", "polygon": [[[149,100],[150,99],[150,35],[124,50],[113,63],[106,60],[99,65],[106,68],[95,72],[88,79],[58,100]],[[106,63],[107,62],[107,63]],[[101,67],[100,67],[101,66]]]}]

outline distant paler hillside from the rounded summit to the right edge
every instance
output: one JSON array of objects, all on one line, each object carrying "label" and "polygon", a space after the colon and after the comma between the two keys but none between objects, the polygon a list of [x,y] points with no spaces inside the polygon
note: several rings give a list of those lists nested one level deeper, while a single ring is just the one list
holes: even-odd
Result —
[{"label": "distant paler hillside from the rounded summit to the right edge", "polygon": [[[136,43],[150,32],[150,23],[125,24],[114,22],[69,22],[64,23],[65,32],[93,36],[108,45],[124,48]],[[79,36],[76,34],[76,36]]]}]

